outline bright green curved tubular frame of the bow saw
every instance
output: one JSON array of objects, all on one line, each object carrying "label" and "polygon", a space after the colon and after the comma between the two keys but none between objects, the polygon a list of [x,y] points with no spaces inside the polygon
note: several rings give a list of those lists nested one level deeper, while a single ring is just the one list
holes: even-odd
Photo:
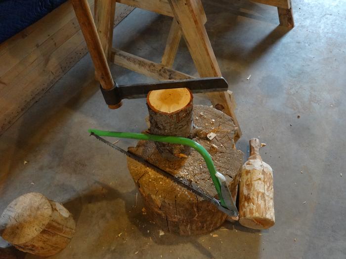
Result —
[{"label": "bright green curved tubular frame of the bow saw", "polygon": [[93,133],[100,137],[103,136],[103,137],[114,137],[114,138],[122,138],[122,139],[157,141],[157,142],[185,145],[185,146],[189,146],[191,148],[196,149],[206,161],[210,176],[212,177],[221,205],[226,207],[225,202],[222,198],[222,194],[221,194],[221,185],[216,177],[216,168],[214,166],[213,159],[208,153],[208,151],[203,146],[198,144],[196,141],[193,141],[187,138],[182,138],[182,137],[159,136],[159,135],[131,133],[131,132],[104,131],[104,130],[96,130],[96,129],[89,129],[88,132]]}]

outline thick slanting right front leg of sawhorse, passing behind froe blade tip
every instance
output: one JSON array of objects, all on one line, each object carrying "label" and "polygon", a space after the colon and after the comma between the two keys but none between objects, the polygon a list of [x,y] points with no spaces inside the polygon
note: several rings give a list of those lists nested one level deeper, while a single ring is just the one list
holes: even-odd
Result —
[{"label": "thick slanting right front leg of sawhorse, passing behind froe blade tip", "polygon": [[[201,77],[221,76],[220,68],[207,35],[206,29],[199,18],[199,8],[195,0],[169,0],[174,16],[179,22],[185,42],[190,51],[198,73]],[[238,128],[237,138],[241,131],[234,113],[235,104],[227,92],[209,93],[213,106],[230,115]]]}]

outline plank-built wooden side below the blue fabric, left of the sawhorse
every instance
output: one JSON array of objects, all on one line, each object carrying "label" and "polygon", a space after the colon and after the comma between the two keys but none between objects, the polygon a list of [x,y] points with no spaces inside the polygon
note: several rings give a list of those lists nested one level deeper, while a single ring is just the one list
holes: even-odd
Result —
[{"label": "plank-built wooden side below the blue fabric, left of the sawhorse", "polygon": [[[114,24],[133,9],[117,4]],[[86,54],[70,1],[1,43],[0,135]]]}]

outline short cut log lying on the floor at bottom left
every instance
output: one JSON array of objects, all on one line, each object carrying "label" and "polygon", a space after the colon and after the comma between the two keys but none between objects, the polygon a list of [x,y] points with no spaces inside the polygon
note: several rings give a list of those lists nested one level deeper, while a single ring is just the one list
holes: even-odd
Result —
[{"label": "short cut log lying on the floor at bottom left", "polygon": [[3,239],[18,250],[43,257],[64,249],[75,229],[76,223],[68,210],[36,192],[12,201],[0,219]]}]

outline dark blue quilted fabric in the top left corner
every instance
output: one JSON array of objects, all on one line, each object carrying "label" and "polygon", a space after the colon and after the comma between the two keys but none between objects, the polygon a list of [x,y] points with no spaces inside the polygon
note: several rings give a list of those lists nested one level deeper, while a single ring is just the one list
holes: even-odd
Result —
[{"label": "dark blue quilted fabric in the top left corner", "polygon": [[0,0],[0,43],[19,33],[66,0]]}]

